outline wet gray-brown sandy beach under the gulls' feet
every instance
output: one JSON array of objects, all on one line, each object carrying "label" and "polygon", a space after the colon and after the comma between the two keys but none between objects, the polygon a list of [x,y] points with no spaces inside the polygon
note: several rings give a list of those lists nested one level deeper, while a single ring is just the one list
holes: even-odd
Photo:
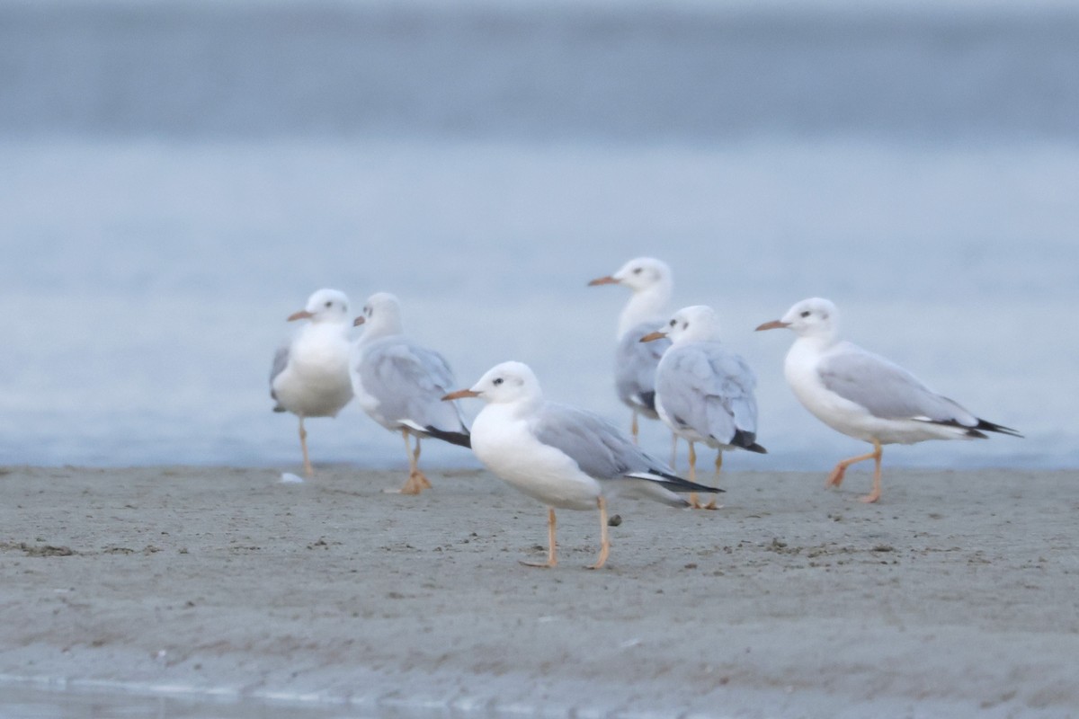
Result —
[{"label": "wet gray-brown sandy beach under the gulls' feet", "polygon": [[[3,687],[388,716],[1079,715],[1076,471],[732,473],[545,510],[486,472],[0,470]],[[341,716],[341,715],[336,715]]]}]

